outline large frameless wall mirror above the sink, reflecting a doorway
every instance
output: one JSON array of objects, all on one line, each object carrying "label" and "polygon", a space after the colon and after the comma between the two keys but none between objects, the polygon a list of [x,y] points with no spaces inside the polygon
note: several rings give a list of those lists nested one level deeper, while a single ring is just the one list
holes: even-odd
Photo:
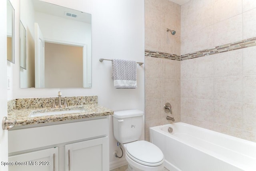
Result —
[{"label": "large frameless wall mirror above the sink, reflecting a doorway", "polygon": [[20,21],[26,32],[21,88],[91,87],[91,14],[20,0]]}]

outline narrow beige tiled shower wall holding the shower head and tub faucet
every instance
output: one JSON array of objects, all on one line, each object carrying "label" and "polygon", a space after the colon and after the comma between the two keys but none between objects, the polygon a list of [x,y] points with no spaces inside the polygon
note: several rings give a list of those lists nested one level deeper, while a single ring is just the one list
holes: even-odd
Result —
[{"label": "narrow beige tiled shower wall holding the shower head and tub faucet", "polygon": [[[166,28],[176,30],[176,34],[167,33]],[[149,127],[171,122],[166,120],[165,103],[172,105],[173,114],[168,115],[180,121],[180,5],[169,0],[145,0],[145,50],[152,54],[163,52],[156,55],[159,58],[145,57],[145,139],[148,141]],[[176,60],[166,56],[175,56]]]}]

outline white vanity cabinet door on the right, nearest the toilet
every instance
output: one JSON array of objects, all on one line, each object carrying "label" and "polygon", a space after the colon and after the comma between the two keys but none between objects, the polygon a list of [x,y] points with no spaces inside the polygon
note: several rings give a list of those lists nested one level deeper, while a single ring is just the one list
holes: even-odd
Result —
[{"label": "white vanity cabinet door on the right, nearest the toilet", "polygon": [[109,171],[108,137],[65,145],[66,171]]}]

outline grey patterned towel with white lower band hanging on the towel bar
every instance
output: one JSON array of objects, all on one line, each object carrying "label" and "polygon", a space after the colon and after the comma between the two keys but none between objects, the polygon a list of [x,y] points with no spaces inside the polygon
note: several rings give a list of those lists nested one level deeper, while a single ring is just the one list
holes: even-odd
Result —
[{"label": "grey patterned towel with white lower band hanging on the towel bar", "polygon": [[115,88],[137,87],[137,62],[112,59],[112,77]]}]

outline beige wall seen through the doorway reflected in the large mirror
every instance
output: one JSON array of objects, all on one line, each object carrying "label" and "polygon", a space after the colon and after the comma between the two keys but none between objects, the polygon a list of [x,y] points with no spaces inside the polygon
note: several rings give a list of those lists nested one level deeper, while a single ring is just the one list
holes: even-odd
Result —
[{"label": "beige wall seen through the doorway reflected in the large mirror", "polygon": [[45,87],[83,87],[83,48],[45,42]]}]

